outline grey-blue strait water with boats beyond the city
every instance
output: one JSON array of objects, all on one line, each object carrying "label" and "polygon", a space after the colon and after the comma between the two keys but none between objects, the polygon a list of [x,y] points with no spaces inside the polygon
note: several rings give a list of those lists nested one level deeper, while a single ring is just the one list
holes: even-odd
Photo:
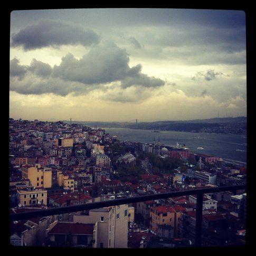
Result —
[{"label": "grey-blue strait water with boats beyond the city", "polygon": [[[226,159],[237,160],[246,163],[246,136],[233,134],[205,134],[182,131],[159,131],[127,129],[127,128],[103,128],[110,135],[118,135],[120,140],[128,140],[141,143],[158,143],[160,145],[173,146],[185,144],[192,152],[206,154]],[[202,139],[195,138],[202,137]],[[203,150],[197,149],[204,148]]]}]

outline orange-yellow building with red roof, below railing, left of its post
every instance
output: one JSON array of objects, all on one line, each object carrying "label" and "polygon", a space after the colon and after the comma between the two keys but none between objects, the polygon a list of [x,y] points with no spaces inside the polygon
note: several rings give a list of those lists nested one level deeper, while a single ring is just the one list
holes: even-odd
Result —
[{"label": "orange-yellow building with red roof, below railing, left of its post", "polygon": [[150,229],[155,233],[160,233],[161,226],[168,225],[170,229],[173,229],[174,236],[178,235],[178,225],[181,219],[181,212],[185,211],[186,208],[175,205],[175,206],[157,206],[150,208]]}]

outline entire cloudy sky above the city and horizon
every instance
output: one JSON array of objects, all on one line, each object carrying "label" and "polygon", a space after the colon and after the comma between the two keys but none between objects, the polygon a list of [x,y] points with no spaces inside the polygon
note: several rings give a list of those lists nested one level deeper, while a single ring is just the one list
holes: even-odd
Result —
[{"label": "entire cloudy sky above the city and horizon", "polygon": [[10,32],[12,118],[246,116],[243,11],[13,11]]}]

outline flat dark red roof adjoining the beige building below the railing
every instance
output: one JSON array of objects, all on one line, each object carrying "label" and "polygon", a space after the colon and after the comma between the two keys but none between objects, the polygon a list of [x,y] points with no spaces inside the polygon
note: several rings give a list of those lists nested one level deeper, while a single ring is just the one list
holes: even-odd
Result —
[{"label": "flat dark red roof adjoining the beige building below the railing", "polygon": [[92,235],[93,223],[57,223],[48,233],[49,234],[79,234]]}]

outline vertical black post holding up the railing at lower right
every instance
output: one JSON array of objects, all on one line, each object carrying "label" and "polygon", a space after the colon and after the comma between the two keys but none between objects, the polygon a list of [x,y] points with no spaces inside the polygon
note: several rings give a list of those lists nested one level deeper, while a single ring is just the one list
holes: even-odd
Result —
[{"label": "vertical black post holding up the railing at lower right", "polygon": [[202,216],[203,216],[203,193],[196,197],[196,221],[195,221],[195,246],[201,246],[202,239]]}]

